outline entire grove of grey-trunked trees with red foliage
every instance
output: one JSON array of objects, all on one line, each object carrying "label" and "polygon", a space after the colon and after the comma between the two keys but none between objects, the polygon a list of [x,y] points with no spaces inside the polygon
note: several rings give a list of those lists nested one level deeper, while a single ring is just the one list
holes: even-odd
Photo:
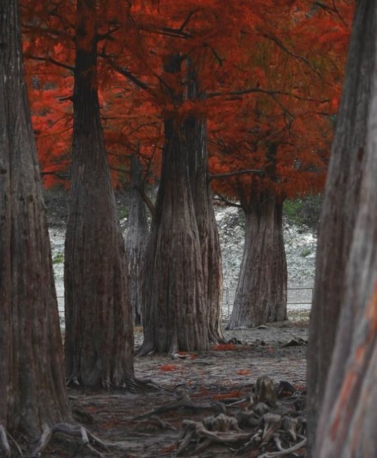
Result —
[{"label": "entire grove of grey-trunked trees with red foliage", "polygon": [[[308,450],[377,456],[377,2],[357,2],[344,70],[353,10],[0,0],[0,454],[13,435],[39,454],[54,427],[85,434],[67,383],[137,388],[134,324],[140,355],[226,342],[214,195],[246,221],[228,328],[286,320],[283,202],[327,174]],[[42,181],[70,193],[64,345]]]}]

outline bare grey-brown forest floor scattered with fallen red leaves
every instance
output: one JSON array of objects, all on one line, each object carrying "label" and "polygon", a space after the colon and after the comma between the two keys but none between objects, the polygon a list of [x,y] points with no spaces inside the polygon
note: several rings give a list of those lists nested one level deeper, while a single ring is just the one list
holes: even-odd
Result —
[{"label": "bare grey-brown forest floor scattered with fallen red leaves", "polygon": [[[85,416],[76,415],[76,419],[101,440],[116,443],[117,447],[111,447],[108,451],[101,450],[102,457],[180,456],[177,455],[177,448],[183,421],[188,419],[202,422],[206,417],[213,416],[213,405],[216,406],[214,402],[225,403],[226,414],[236,416],[237,412],[245,409],[247,402],[235,406],[230,406],[229,403],[252,395],[254,385],[260,376],[269,376],[276,387],[280,380],[288,380],[297,390],[296,395],[302,395],[306,386],[307,333],[307,322],[286,321],[269,324],[268,327],[261,329],[225,331],[227,340],[235,338],[242,344],[212,346],[206,352],[183,355],[186,356],[185,359],[173,359],[162,354],[136,357],[135,375],[138,378],[150,378],[165,389],[152,388],[129,392],[70,388],[69,395],[74,406],[91,416],[91,419],[85,419]],[[137,329],[135,347],[141,342],[142,332]],[[288,342],[290,345],[287,345]],[[144,419],[135,419],[136,416],[148,414],[157,407],[179,400],[182,397],[182,388],[187,390],[186,394],[196,406],[208,408],[171,409],[164,413],[157,412],[153,417],[146,415]],[[284,396],[290,397],[289,394],[283,393],[283,400]],[[278,404],[279,402],[278,400]],[[261,424],[263,428],[263,423]],[[233,431],[234,433],[236,431]],[[288,445],[282,441],[283,447],[287,448],[299,440],[297,438],[294,442],[288,442]],[[204,450],[192,453],[196,447],[195,443],[202,442],[204,439],[198,436],[194,444],[190,442],[191,445],[182,456],[234,457],[234,450],[242,448],[245,438],[234,443],[204,443]],[[93,456],[92,452],[84,445],[79,445],[79,442],[75,442],[73,446],[71,441],[70,445],[64,448],[61,447],[61,443],[58,440],[51,442],[46,456]],[[274,450],[276,447],[271,438],[268,445],[247,447],[247,450],[238,452],[237,456],[268,457],[268,454],[264,453]],[[300,457],[303,454],[304,449],[300,449],[285,456]]]}]

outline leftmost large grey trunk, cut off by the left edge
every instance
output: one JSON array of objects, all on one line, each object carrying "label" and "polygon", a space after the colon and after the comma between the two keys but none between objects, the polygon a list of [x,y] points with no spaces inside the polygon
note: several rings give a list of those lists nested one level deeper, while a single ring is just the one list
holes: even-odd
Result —
[{"label": "leftmost large grey trunk, cut off by the left edge", "polygon": [[16,435],[70,420],[16,0],[0,0],[0,392]]}]

